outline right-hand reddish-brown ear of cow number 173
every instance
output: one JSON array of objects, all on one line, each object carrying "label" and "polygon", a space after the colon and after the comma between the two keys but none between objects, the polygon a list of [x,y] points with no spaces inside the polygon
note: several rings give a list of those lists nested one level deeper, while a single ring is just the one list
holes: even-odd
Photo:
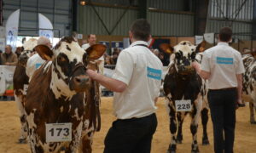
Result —
[{"label": "right-hand reddish-brown ear of cow number 173", "polygon": [[102,44],[95,44],[87,48],[85,51],[89,59],[99,59],[106,51],[106,46]]}]

